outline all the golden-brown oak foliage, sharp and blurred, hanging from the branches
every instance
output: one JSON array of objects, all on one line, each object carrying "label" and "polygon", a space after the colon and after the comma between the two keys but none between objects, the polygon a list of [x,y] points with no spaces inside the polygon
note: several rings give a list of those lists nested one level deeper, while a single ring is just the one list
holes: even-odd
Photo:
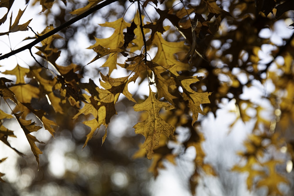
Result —
[{"label": "all the golden-brown oak foliage, sharp and blurred, hanging from the branches", "polygon": [[[62,2],[66,5],[66,1]],[[69,21],[56,29],[64,29],[77,19],[88,16],[114,0],[106,0],[101,4],[98,4],[99,2],[89,1],[86,6],[74,9],[70,12],[75,17],[72,22]],[[280,182],[288,183],[288,180],[275,171],[280,161],[274,158],[266,161],[264,159],[265,151],[269,148],[278,150],[285,145],[288,145],[289,155],[293,159],[291,141],[281,139],[289,134],[286,130],[294,120],[294,95],[291,90],[294,86],[293,36],[278,48],[269,38],[261,38],[259,33],[264,28],[272,29],[274,19],[289,19],[287,11],[294,9],[292,1],[271,0],[270,3],[254,3],[232,0],[226,8],[227,11],[222,9],[222,4],[217,1],[202,0],[196,5],[181,1],[177,4],[181,5],[179,9],[176,9],[178,6],[171,6],[173,2],[161,1],[165,9],[157,8],[157,0],[147,0],[143,4],[140,4],[140,1],[132,2],[137,4],[138,10],[130,22],[122,17],[100,24],[102,27],[113,28],[114,32],[108,38],[95,37],[95,44],[89,47],[97,53],[90,63],[104,58],[105,62],[101,67],[108,68],[108,74],[99,73],[99,84],[92,79],[86,83],[81,82],[85,64],[70,63],[60,66],[56,63],[61,51],[54,46],[54,41],[63,37],[52,33],[56,31],[53,25],[47,26],[42,33],[35,34],[34,38],[41,42],[41,46],[35,46],[36,43],[33,43],[21,50],[28,49],[36,64],[29,68],[16,65],[13,70],[2,73],[16,76],[16,81],[0,78],[1,100],[10,108],[10,112],[0,110],[0,140],[22,155],[9,143],[8,138],[15,137],[13,131],[2,124],[6,119],[15,118],[24,130],[39,165],[39,154],[42,152],[35,142],[42,142],[31,133],[43,127],[53,136],[56,130],[54,128],[59,126],[58,117],[68,115],[69,108],[74,108],[76,112],[71,115],[71,119],[84,119],[83,124],[90,127],[84,147],[102,125],[106,128],[102,138],[104,143],[111,118],[117,114],[115,106],[123,94],[135,103],[133,108],[136,112],[147,112],[141,113],[141,122],[133,127],[135,133],[145,136],[142,145],[145,150],[139,150],[134,157],[145,156],[147,153],[148,159],[153,158],[151,171],[155,176],[158,175],[158,169],[163,167],[164,160],[175,163],[177,154],[167,147],[169,140],[179,143],[174,130],[180,127],[190,130],[190,137],[181,145],[184,149],[190,146],[196,149],[196,169],[190,179],[191,191],[194,194],[203,172],[215,175],[213,168],[204,162],[205,153],[201,147],[204,136],[198,130],[201,124],[198,114],[212,112],[216,115],[223,98],[234,99],[238,109],[234,111],[238,114],[235,122],[241,119],[246,123],[255,119],[256,123],[252,135],[245,142],[245,152],[239,153],[246,160],[245,165],[236,165],[233,170],[249,172],[249,189],[266,186],[269,195],[282,195],[277,185]],[[0,19],[0,25],[6,21],[13,3],[13,0],[0,2],[0,7],[7,8],[7,13]],[[56,2],[40,1],[42,12],[48,14],[54,3]],[[141,10],[150,9],[154,5],[159,18],[151,19],[147,14],[147,17],[144,16]],[[19,24],[24,11],[19,11],[13,23],[12,17],[10,18],[8,31],[0,33],[0,36],[29,30],[31,20]],[[125,14],[128,14],[127,11]],[[166,21],[170,26],[164,25]],[[175,35],[176,41],[168,40],[166,34]],[[220,44],[214,44],[216,42]],[[272,51],[271,62],[260,66],[258,52],[264,44],[276,46],[277,50]],[[33,46],[38,50],[35,54],[31,52]],[[154,51],[155,48],[156,54],[150,58],[148,51]],[[14,54],[16,52],[12,51],[2,55],[0,60]],[[42,61],[36,60],[36,55]],[[278,56],[283,57],[284,63],[275,61]],[[124,63],[118,63],[121,59]],[[87,66],[91,66],[90,63]],[[118,66],[125,69],[128,76],[111,77],[111,73]],[[270,69],[271,66],[275,69]],[[241,74],[246,76],[247,82],[240,81],[238,75]],[[219,77],[221,75],[228,79],[223,80]],[[144,80],[149,84],[149,96],[142,100],[128,91],[128,84],[142,83]],[[274,108],[270,120],[263,118],[264,108],[261,104],[240,98],[244,87],[250,87],[256,81],[264,84],[268,80],[273,82],[275,90],[262,99],[268,100]],[[151,90],[151,87],[156,87],[156,91]],[[37,107],[36,103],[40,100],[45,100],[46,104]],[[256,111],[256,116],[248,114],[249,108]],[[31,118],[31,115],[34,118]],[[32,122],[33,119],[38,120],[41,126]],[[266,140],[270,140],[270,143],[266,143]],[[1,162],[4,160],[5,158]],[[262,169],[256,170],[256,165]],[[0,173],[0,179],[2,175]]]}]

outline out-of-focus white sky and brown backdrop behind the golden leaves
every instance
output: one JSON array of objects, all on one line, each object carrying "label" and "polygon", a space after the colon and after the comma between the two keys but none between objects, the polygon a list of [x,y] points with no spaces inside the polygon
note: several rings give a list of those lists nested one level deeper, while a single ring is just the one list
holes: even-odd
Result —
[{"label": "out-of-focus white sky and brown backdrop behind the golden leaves", "polygon": [[[162,10],[171,8],[179,2],[166,1],[165,4],[159,5],[158,8]],[[197,5],[200,1],[191,1],[190,3]],[[221,5],[222,9],[231,11],[229,10],[231,1],[224,0],[217,1],[217,3]],[[40,33],[49,24],[53,24],[56,27],[68,21],[73,17],[69,14],[70,11],[83,7],[86,4],[88,4],[88,1],[85,0],[69,0],[65,6],[63,1],[55,1],[50,10],[46,10],[45,14],[40,14],[42,6],[39,5],[39,2],[29,1],[20,23],[33,18],[30,26],[35,32]],[[14,4],[11,9],[13,16],[17,14],[18,9],[24,9],[25,7],[26,1]],[[148,8],[147,6],[147,13],[143,14],[148,14],[151,20],[158,18],[159,15],[154,8]],[[236,14],[238,12],[237,8],[232,12]],[[4,9],[0,8],[0,17],[2,17],[1,10]],[[128,9],[128,12],[124,15],[126,9]],[[239,9],[242,10],[240,7]],[[61,56],[56,63],[64,66],[71,62],[75,63],[82,67],[81,73],[84,78],[81,78],[81,82],[88,82],[91,78],[98,83],[99,78],[101,78],[99,72],[104,75],[107,73],[107,68],[100,66],[105,59],[101,58],[95,61],[95,63],[85,65],[85,62],[90,62],[96,56],[93,50],[86,48],[96,43],[95,37],[105,38],[113,33],[113,29],[101,27],[98,24],[103,24],[106,21],[115,21],[123,16],[126,21],[130,22],[133,19],[135,10],[136,5],[131,4],[131,2],[118,1],[96,11],[91,17],[84,18],[69,28],[63,29],[59,35],[64,37],[64,39],[54,41],[54,46],[61,51]],[[1,25],[0,32],[6,31],[5,28],[9,26],[8,23],[6,21],[6,23]],[[165,23],[169,25],[167,21]],[[278,46],[279,44],[283,45],[283,40],[290,38],[293,34],[293,30],[287,28],[291,24],[290,21],[288,21],[289,24],[286,23],[286,20],[276,21],[271,31],[260,31],[259,36],[270,40]],[[225,27],[228,27],[225,23],[222,27],[221,31],[230,31],[225,29]],[[168,41],[174,41],[180,37],[171,31],[168,33],[164,34]],[[31,31],[11,33],[7,37],[1,36],[1,51],[19,48],[21,45],[30,42],[30,40],[22,41],[24,38],[33,36],[34,33]],[[230,48],[228,44],[219,43],[217,40],[212,41],[211,45],[220,51]],[[260,60],[264,62],[271,60],[268,60],[268,51],[270,51],[268,47],[264,47],[258,54]],[[32,48],[32,51],[34,53],[37,50]],[[154,51],[149,51],[149,53],[151,57],[152,54],[155,55]],[[34,59],[31,58],[29,51],[24,51],[15,58],[1,61],[0,71],[11,70],[14,67],[11,65],[16,65],[16,63],[23,67],[36,64]],[[217,63],[215,65],[216,67],[218,66]],[[126,76],[126,71],[119,66],[117,67],[118,69],[114,70],[111,76],[113,78]],[[199,72],[199,74],[203,73]],[[219,77],[221,78],[222,75],[220,74]],[[239,81],[248,80],[246,78],[247,76],[238,76]],[[13,80],[14,76],[11,76],[11,79]],[[146,98],[149,93],[146,80],[141,83],[131,83],[128,89],[136,100]],[[268,113],[272,112],[273,108],[269,102],[262,99],[262,96],[272,93],[274,89],[273,84],[270,82],[266,84],[256,82],[252,87],[246,87],[240,93],[240,96],[244,100],[250,98],[253,102],[260,103],[264,108],[268,108],[263,117],[270,119],[271,116]],[[33,100],[36,108],[42,108],[50,112],[52,108],[46,105],[46,101],[45,98]],[[177,145],[173,141],[168,142],[169,151],[177,154],[177,157],[174,163],[163,160],[161,162],[162,165],[157,165],[161,169],[158,170],[156,178],[153,176],[154,165],[152,165],[152,160],[148,160],[145,157],[133,158],[133,155],[144,142],[143,135],[136,135],[132,128],[140,120],[139,115],[133,110],[133,105],[134,103],[130,103],[127,98],[121,96],[116,104],[118,115],[111,118],[105,143],[102,145],[102,136],[105,128],[101,127],[83,149],[82,147],[86,140],[85,135],[90,129],[81,123],[85,120],[83,117],[75,120],[72,119],[76,113],[74,108],[70,107],[70,105],[64,106],[67,110],[66,115],[56,114],[52,116],[52,118],[56,119],[57,124],[60,125],[56,128],[54,138],[46,130],[39,130],[36,133],[36,138],[46,143],[46,145],[38,145],[43,152],[40,155],[39,169],[19,125],[15,120],[5,120],[3,122],[4,125],[14,130],[17,136],[17,138],[10,138],[11,145],[26,156],[21,157],[6,145],[0,143],[0,159],[8,157],[0,164],[0,172],[5,173],[3,179],[6,181],[6,183],[0,183],[0,195],[192,195],[189,179],[195,172],[194,159],[196,151],[193,147],[183,149],[183,146]],[[7,110],[4,104],[1,104],[0,107],[3,110]],[[240,118],[238,119],[234,112],[237,110],[236,100],[233,98],[221,99],[218,107],[220,109],[209,112],[206,116],[199,115],[199,120],[201,121],[199,132],[205,138],[205,141],[201,143],[206,154],[204,161],[213,166],[217,175],[201,175],[198,179],[196,195],[266,195],[267,190],[263,188],[248,190],[246,184],[247,173],[231,171],[235,164],[242,161],[242,157],[238,156],[237,152],[245,150],[243,143],[255,127],[254,119],[247,122]],[[248,113],[252,115],[252,113]],[[36,123],[38,122],[36,121]],[[177,140],[181,141],[181,143],[187,141],[191,134],[190,130],[183,127],[176,129]],[[289,159],[286,152],[280,152],[275,155],[282,160]],[[290,172],[285,172],[286,167],[287,162],[285,161],[277,169],[282,171],[287,176],[287,179],[293,179],[292,168],[291,170],[289,169]],[[293,195],[293,180],[289,180],[287,186],[281,185],[281,189],[287,195]]]}]

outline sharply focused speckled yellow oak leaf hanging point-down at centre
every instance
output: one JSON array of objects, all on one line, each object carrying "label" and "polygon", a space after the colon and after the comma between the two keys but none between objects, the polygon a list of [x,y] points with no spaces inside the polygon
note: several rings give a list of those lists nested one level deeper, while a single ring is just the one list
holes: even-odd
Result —
[{"label": "sharply focused speckled yellow oak leaf hanging point-down at centre", "polygon": [[159,111],[165,107],[166,110],[174,109],[172,105],[166,102],[158,101],[154,92],[151,91],[148,98],[143,103],[137,103],[133,106],[135,111],[147,111],[149,116],[143,122],[134,125],[135,133],[145,136],[145,142],[142,148],[146,149],[147,158],[151,159],[154,154],[154,147],[159,144],[160,134],[164,133],[167,137],[173,137],[173,126],[166,123],[160,116]]}]

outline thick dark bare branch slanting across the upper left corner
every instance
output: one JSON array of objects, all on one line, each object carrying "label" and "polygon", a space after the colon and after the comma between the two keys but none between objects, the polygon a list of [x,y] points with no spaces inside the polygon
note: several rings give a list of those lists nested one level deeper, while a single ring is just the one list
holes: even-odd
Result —
[{"label": "thick dark bare branch slanting across the upper left corner", "polygon": [[54,35],[55,33],[61,31],[62,29],[64,29],[64,28],[70,26],[71,24],[74,24],[76,21],[79,21],[79,20],[81,20],[81,19],[83,19],[83,18],[89,16],[89,15],[92,14],[94,11],[97,11],[97,10],[99,10],[99,9],[101,9],[101,8],[107,6],[107,5],[109,5],[109,4],[111,4],[111,3],[115,2],[115,1],[118,1],[118,0],[106,0],[106,1],[102,2],[101,4],[98,4],[98,5],[94,6],[94,7],[92,7],[91,9],[85,11],[83,14],[80,14],[80,15],[74,17],[73,19],[71,19],[71,20],[65,22],[64,24],[61,24],[59,27],[56,27],[56,28],[53,29],[52,31],[49,31],[48,33],[46,33],[46,34],[44,34],[44,35],[42,35],[42,36],[39,36],[38,38],[36,38],[36,39],[35,39],[34,41],[32,41],[31,43],[29,43],[29,44],[27,44],[27,45],[25,45],[25,46],[23,46],[23,47],[21,47],[21,48],[18,48],[18,49],[16,49],[16,50],[13,50],[13,51],[11,51],[11,52],[9,52],[9,53],[7,53],[7,54],[4,54],[4,55],[0,56],[0,60],[2,60],[2,59],[4,59],[4,58],[8,58],[8,57],[10,57],[10,56],[12,56],[12,55],[15,55],[15,54],[17,54],[17,53],[19,53],[19,52],[21,52],[21,51],[26,50],[26,49],[30,49],[30,48],[32,48],[34,45],[36,45],[37,43],[43,41],[44,39],[46,39],[46,38],[48,38],[48,37]]}]

